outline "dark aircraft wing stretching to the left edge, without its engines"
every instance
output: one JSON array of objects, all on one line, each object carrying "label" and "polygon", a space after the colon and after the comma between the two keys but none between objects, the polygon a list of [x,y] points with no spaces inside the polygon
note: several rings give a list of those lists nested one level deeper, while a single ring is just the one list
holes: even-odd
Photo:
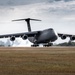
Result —
[{"label": "dark aircraft wing stretching to the left edge, without its engines", "polygon": [[25,33],[15,33],[15,34],[5,34],[5,35],[0,35],[0,38],[8,38],[8,37],[22,37],[23,35],[26,35],[27,37],[32,37],[34,35],[37,35],[39,31],[34,31],[34,32],[25,32]]}]

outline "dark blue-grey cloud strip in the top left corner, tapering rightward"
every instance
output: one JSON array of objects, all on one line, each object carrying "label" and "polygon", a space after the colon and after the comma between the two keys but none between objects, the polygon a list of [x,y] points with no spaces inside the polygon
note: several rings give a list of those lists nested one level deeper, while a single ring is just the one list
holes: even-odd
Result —
[{"label": "dark blue-grey cloud strip in the top left corner, tapering rightward", "polygon": [[0,0],[0,5],[6,6],[6,5],[27,5],[27,4],[34,4],[39,2],[44,2],[45,0]]}]

